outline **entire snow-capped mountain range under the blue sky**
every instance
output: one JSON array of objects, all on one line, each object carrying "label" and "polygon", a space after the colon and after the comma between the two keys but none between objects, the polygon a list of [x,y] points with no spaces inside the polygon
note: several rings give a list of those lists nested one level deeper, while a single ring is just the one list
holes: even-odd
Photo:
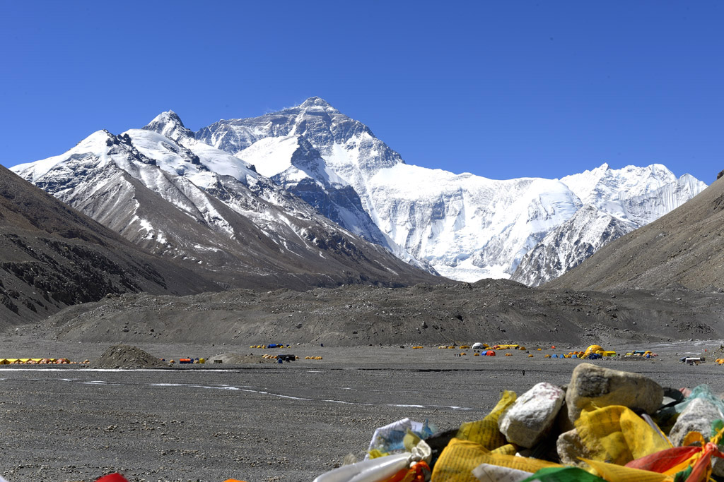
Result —
[{"label": "entire snow-capped mountain range under the blue sky", "polygon": [[655,164],[507,181],[421,168],[320,98],[198,132],[169,111],[12,170],[231,286],[429,280],[421,270],[539,285],[706,187]]}]

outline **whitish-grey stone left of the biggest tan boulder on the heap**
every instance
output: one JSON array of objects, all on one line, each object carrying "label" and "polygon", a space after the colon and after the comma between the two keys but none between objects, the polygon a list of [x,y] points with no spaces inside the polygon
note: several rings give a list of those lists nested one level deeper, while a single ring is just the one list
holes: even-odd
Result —
[{"label": "whitish-grey stone left of the biggest tan boulder on the heap", "polygon": [[565,392],[542,382],[523,393],[498,420],[498,428],[508,442],[533,447],[550,430],[563,405]]}]

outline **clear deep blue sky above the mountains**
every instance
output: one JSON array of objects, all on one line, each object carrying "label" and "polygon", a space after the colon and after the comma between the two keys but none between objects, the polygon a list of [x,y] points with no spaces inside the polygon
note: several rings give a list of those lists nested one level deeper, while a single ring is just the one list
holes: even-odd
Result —
[{"label": "clear deep blue sky above the mountains", "polygon": [[0,0],[0,163],[317,95],[410,164],[724,169],[724,2]]}]

